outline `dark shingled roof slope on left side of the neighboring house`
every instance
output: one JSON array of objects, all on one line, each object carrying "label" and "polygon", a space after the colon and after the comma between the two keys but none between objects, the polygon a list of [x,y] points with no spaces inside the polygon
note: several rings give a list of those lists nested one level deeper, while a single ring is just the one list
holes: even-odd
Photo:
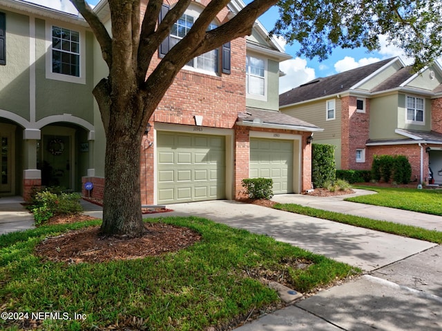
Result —
[{"label": "dark shingled roof slope on left side of the neighboring house", "polygon": [[318,99],[327,95],[345,92],[355,86],[363,79],[374,74],[396,58],[385,59],[367,66],[347,70],[329,77],[317,78],[308,83],[302,84],[285,93],[280,94],[280,106],[287,106],[293,103]]}]

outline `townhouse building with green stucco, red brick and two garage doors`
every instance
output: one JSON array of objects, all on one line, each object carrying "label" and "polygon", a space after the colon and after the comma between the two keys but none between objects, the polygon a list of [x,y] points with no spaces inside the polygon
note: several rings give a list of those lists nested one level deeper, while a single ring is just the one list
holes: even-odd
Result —
[{"label": "townhouse building with green stucco, red brick and two garage doors", "polygon": [[[191,3],[152,68],[208,2]],[[212,27],[243,6],[231,1]],[[109,28],[107,1],[94,10]],[[91,91],[108,72],[97,41],[81,17],[19,0],[2,1],[0,13],[0,194],[60,185],[87,195],[91,182],[102,198],[106,140]],[[307,137],[321,129],[278,111],[279,62],[289,58],[257,22],[250,37],[189,62],[146,128],[142,202],[235,199],[248,177],[271,177],[276,193],[311,188]]]}]

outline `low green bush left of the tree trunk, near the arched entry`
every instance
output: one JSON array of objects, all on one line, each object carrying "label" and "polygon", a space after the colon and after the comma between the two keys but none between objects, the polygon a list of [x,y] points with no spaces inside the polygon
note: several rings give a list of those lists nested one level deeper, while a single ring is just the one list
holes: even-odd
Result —
[{"label": "low green bush left of the tree trunk, near the arched entry", "polygon": [[35,225],[46,223],[48,219],[56,215],[78,214],[83,211],[79,199],[81,199],[81,195],[78,193],[57,195],[50,190],[37,192],[30,208],[34,214]]}]

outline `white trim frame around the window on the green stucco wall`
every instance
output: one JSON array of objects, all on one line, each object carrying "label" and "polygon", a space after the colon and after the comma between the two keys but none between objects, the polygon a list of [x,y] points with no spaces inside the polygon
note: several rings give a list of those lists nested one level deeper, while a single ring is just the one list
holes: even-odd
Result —
[{"label": "white trim frame around the window on the green stucco wall", "polygon": [[[68,74],[58,74],[52,72],[52,26],[66,28],[79,32],[80,35],[80,75],[79,77]],[[86,34],[84,29],[65,23],[53,23],[46,21],[46,79],[56,81],[67,81],[69,83],[86,84]]]}]

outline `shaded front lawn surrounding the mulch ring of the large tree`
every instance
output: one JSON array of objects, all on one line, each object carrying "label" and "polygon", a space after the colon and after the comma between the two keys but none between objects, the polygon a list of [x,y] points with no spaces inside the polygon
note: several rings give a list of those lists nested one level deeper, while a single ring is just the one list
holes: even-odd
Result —
[{"label": "shaded front lawn surrounding the mulch ring of the large tree", "polygon": [[[252,310],[279,301],[254,274],[283,275],[291,288],[308,292],[361,271],[207,219],[161,221],[189,227],[202,241],[158,257],[68,265],[42,261],[33,254],[35,245],[98,221],[0,236],[0,312],[61,312],[71,318],[43,319],[40,330],[204,330],[244,320]],[[307,268],[297,268],[298,262]],[[75,320],[74,314],[85,319]],[[28,323],[0,319],[0,329],[20,330]]]}]

